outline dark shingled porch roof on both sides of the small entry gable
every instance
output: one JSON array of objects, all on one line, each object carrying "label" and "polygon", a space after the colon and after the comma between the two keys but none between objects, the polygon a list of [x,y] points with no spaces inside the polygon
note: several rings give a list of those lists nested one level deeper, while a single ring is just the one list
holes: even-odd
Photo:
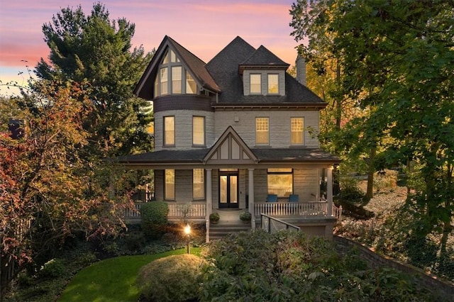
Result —
[{"label": "dark shingled porch roof on both sides of the small entry gable", "polygon": [[[117,157],[120,164],[172,164],[192,163],[203,164],[205,155],[210,148],[193,150],[160,150],[136,155]],[[252,148],[250,149],[260,162],[326,162],[338,163],[341,159],[318,148]],[[226,162],[227,164],[228,162]]]}]

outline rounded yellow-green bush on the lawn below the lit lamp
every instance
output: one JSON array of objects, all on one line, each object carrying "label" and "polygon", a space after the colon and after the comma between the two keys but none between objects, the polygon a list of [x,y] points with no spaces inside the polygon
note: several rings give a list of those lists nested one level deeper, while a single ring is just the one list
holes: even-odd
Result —
[{"label": "rounded yellow-green bush on the lawn below the lit lamp", "polygon": [[150,301],[191,301],[197,298],[203,259],[173,255],[157,259],[140,269],[140,293]]}]

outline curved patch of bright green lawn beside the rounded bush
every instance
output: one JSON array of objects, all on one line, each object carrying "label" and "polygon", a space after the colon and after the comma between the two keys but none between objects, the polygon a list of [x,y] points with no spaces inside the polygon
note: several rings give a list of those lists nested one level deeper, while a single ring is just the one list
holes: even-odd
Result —
[{"label": "curved patch of bright green lawn beside the rounded bush", "polygon": [[[199,255],[200,250],[200,247],[193,247],[191,254]],[[58,301],[137,301],[139,291],[135,279],[140,267],[155,259],[185,252],[186,249],[181,249],[96,262],[74,276]]]}]

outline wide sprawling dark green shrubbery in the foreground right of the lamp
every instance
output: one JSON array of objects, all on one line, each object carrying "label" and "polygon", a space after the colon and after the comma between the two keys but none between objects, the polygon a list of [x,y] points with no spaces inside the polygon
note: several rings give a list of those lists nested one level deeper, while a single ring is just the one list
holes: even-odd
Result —
[{"label": "wide sprawling dark green shrubbery in the foreground right of the lamp", "polygon": [[206,246],[200,301],[431,301],[425,289],[393,269],[367,269],[333,242],[303,232],[262,230],[228,235]]}]

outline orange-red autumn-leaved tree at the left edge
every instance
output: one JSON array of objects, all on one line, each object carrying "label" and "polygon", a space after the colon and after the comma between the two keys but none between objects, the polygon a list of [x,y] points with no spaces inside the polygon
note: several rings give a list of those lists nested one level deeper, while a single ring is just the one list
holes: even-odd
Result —
[{"label": "orange-red autumn-leaved tree at the left edge", "polygon": [[[116,174],[100,160],[84,159],[82,123],[93,108],[88,86],[40,81],[34,87],[9,99],[24,135],[0,133],[1,293],[26,264],[47,261],[43,255],[66,237],[116,233],[128,205],[127,196],[111,198],[105,189]],[[11,112],[0,109],[0,117]]]}]

